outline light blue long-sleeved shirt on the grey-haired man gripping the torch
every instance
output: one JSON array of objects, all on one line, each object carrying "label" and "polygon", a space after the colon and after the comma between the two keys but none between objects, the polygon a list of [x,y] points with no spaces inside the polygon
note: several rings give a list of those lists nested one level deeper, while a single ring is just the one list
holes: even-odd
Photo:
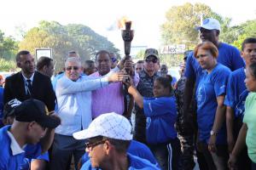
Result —
[{"label": "light blue long-sleeved shirt on the grey-haired man gripping the torch", "polygon": [[61,125],[55,128],[55,133],[72,136],[87,128],[92,121],[90,91],[105,86],[108,86],[108,77],[82,76],[76,82],[66,76],[61,77],[55,89]]}]

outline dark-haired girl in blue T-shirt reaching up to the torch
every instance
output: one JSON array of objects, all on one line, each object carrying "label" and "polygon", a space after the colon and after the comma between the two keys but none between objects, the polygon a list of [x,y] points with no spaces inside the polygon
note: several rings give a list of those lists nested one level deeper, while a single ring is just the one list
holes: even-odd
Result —
[{"label": "dark-haired girl in blue T-shirt reaching up to the torch", "polygon": [[[130,79],[131,80],[131,79]],[[154,98],[144,98],[132,82],[125,82],[128,93],[147,117],[146,140],[161,169],[178,169],[180,144],[174,123],[177,118],[176,99],[169,78],[154,81]]]}]

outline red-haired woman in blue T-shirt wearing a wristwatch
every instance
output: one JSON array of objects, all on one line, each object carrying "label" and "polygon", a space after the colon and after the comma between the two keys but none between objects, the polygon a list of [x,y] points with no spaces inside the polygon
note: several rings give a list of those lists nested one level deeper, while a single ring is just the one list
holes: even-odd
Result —
[{"label": "red-haired woman in blue T-shirt wearing a wristwatch", "polygon": [[227,169],[228,150],[224,124],[224,97],[230,69],[218,64],[218,48],[212,42],[195,47],[194,56],[204,71],[196,88],[198,149],[208,169]]}]

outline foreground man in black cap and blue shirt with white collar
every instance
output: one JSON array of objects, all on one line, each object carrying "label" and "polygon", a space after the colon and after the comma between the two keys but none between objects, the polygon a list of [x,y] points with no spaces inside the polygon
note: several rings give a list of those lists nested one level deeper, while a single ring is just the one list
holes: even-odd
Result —
[{"label": "foreground man in black cap and blue shirt with white collar", "polygon": [[[33,144],[38,144],[44,137],[45,127],[55,128],[60,124],[59,119],[47,115],[46,106],[38,99],[27,99],[12,112],[15,115],[13,124],[0,129],[0,144],[3,147],[0,152],[1,170],[23,169],[26,164],[24,158],[29,155],[27,152],[37,147]],[[40,154],[39,151],[38,156]]]}]

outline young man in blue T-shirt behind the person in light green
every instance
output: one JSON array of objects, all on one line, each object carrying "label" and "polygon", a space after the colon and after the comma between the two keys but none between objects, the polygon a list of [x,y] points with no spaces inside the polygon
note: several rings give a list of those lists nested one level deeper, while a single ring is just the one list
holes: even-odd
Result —
[{"label": "young man in blue T-shirt behind the person in light green", "polygon": [[[256,38],[249,37],[241,44],[241,56],[245,60],[246,67],[256,62]],[[226,110],[227,140],[230,153],[236,143],[236,138],[241,129],[244,116],[244,104],[248,95],[244,80],[246,68],[242,67],[230,74],[228,89],[224,105]],[[238,169],[250,169],[251,161],[247,156],[247,148],[242,150],[237,159]]]}]

